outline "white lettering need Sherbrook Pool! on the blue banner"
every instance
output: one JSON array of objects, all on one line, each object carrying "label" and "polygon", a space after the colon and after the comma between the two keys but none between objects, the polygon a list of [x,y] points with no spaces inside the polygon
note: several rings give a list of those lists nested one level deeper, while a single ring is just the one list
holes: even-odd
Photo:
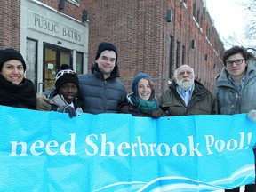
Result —
[{"label": "white lettering need Sherbrook Pool! on the blue banner", "polygon": [[[70,133],[67,141],[59,143],[57,140],[36,140],[29,142],[11,141],[11,153],[9,156],[74,156],[76,153],[76,133]],[[213,135],[204,136],[204,144],[195,142],[194,136],[188,136],[185,143],[148,143],[137,136],[133,142],[108,140],[107,134],[90,134],[85,138],[84,152],[87,156],[204,156],[223,151],[246,150],[252,140],[252,132],[239,132],[239,138],[221,140]],[[81,146],[79,146],[81,148]],[[81,151],[80,151],[81,152]],[[83,152],[83,153],[84,153]]]}]

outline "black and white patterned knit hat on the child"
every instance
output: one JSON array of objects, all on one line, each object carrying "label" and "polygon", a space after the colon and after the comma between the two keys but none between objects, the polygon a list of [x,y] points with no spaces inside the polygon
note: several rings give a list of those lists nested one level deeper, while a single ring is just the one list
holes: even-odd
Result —
[{"label": "black and white patterned knit hat on the child", "polygon": [[59,92],[60,86],[62,86],[62,84],[68,84],[68,83],[76,84],[76,86],[79,87],[79,80],[76,73],[69,68],[60,70],[56,74],[56,78],[55,78],[56,92]]}]

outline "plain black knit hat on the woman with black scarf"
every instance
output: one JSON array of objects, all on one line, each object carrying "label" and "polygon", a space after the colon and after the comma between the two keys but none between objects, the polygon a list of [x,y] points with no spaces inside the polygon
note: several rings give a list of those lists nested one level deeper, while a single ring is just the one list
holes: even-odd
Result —
[{"label": "plain black knit hat on the woman with black scarf", "polygon": [[23,59],[22,55],[20,52],[12,49],[12,48],[7,48],[4,50],[1,50],[0,52],[0,71],[2,71],[4,62],[8,60],[20,60],[20,62],[23,65],[24,71],[26,70],[26,63],[25,60]]}]

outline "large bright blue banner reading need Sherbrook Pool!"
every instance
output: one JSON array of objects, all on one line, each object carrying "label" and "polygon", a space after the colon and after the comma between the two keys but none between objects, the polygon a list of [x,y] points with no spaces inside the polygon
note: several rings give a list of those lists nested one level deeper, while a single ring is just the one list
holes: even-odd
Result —
[{"label": "large bright blue banner reading need Sherbrook Pool!", "polygon": [[254,182],[256,123],[234,116],[0,107],[0,191],[212,191]]}]

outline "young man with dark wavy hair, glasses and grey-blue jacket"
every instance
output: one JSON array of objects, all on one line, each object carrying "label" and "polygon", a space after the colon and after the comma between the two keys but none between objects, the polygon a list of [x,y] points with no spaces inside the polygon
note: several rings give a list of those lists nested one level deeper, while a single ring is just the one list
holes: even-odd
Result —
[{"label": "young man with dark wavy hair, glasses and grey-blue jacket", "polygon": [[[234,46],[224,52],[223,63],[214,91],[219,114],[248,113],[248,117],[256,121],[256,64],[253,54],[244,47]],[[239,188],[225,191],[239,191]],[[245,191],[256,191],[256,185],[246,185]]]}]

